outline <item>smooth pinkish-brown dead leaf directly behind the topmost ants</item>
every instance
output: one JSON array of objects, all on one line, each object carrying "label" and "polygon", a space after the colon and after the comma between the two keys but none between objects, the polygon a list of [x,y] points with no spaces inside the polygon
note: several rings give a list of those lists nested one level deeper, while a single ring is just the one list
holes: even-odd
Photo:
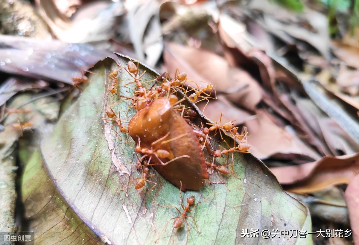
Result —
[{"label": "smooth pinkish-brown dead leaf directly behind the topmost ants", "polygon": [[173,75],[176,69],[186,71],[187,78],[196,81],[199,86],[211,83],[216,91],[230,93],[227,95],[229,100],[241,107],[254,111],[261,100],[261,88],[256,80],[246,71],[230,67],[223,57],[212,52],[165,43],[163,56],[169,74]]}]

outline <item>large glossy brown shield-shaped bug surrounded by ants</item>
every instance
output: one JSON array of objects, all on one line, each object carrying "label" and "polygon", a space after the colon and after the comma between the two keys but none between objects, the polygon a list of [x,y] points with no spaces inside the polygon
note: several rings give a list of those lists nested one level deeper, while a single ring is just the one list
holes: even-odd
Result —
[{"label": "large glossy brown shield-shaped bug surrounded by ants", "polygon": [[[158,141],[156,148],[170,153],[168,158],[160,158],[164,164],[151,163],[160,175],[182,191],[202,188],[208,173],[201,145],[191,126],[176,113],[167,98],[158,98],[139,110],[130,120],[128,131],[132,139],[141,140],[143,147],[151,148]],[[167,134],[173,140],[159,140]],[[180,137],[183,134],[186,137]],[[179,158],[166,164],[176,157]]]}]

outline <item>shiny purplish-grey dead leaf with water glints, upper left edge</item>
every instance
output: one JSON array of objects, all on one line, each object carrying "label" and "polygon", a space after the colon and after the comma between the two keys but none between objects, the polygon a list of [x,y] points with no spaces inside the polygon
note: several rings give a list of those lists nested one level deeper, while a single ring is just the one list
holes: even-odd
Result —
[{"label": "shiny purplish-grey dead leaf with water glints, upper left edge", "polygon": [[84,43],[8,35],[0,35],[0,40],[0,70],[35,79],[74,84],[72,78],[81,77],[81,71],[105,57],[115,57]]}]

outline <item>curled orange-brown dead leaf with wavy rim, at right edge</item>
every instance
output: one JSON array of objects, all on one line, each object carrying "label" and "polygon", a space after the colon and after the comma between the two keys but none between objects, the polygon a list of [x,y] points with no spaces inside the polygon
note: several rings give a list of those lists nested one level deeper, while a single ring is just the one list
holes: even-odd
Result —
[{"label": "curled orange-brown dead leaf with wavy rim, at right edge", "polygon": [[304,194],[320,191],[328,186],[348,184],[359,174],[359,153],[340,157],[324,156],[298,166],[270,168],[287,191]]}]

